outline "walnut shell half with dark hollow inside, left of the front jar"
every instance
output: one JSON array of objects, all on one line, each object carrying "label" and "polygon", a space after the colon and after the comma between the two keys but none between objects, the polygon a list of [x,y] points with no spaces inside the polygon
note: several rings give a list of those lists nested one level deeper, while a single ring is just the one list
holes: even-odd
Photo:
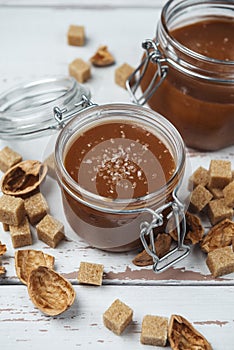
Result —
[{"label": "walnut shell half with dark hollow inside, left of the front jar", "polygon": [[25,160],[10,168],[3,176],[1,189],[4,194],[25,197],[35,192],[44,180],[47,166],[38,160]]}]

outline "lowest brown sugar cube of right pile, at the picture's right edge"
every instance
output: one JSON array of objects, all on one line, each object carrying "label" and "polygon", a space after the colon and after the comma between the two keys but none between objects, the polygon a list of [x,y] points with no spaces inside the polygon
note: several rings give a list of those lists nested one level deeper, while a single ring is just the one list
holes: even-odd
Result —
[{"label": "lowest brown sugar cube of right pile, at the picture's right edge", "polygon": [[206,264],[214,277],[234,272],[234,253],[231,246],[208,253]]}]

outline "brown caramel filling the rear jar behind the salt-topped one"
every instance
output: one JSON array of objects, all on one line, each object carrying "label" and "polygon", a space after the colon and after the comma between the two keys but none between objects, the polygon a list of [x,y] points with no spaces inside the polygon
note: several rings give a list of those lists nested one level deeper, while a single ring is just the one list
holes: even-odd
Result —
[{"label": "brown caramel filling the rear jar behind the salt-topped one", "polygon": [[[170,32],[186,48],[227,63],[234,61],[233,33],[234,21],[222,17],[195,22]],[[203,60],[198,59],[196,65],[199,69],[206,69]],[[218,64],[215,67],[213,70],[220,72],[221,76],[221,67]],[[143,92],[156,68],[155,64],[149,64],[141,83]],[[185,74],[168,64],[166,79],[148,104],[175,125],[187,146],[217,150],[234,144],[233,83],[210,82]]]}]

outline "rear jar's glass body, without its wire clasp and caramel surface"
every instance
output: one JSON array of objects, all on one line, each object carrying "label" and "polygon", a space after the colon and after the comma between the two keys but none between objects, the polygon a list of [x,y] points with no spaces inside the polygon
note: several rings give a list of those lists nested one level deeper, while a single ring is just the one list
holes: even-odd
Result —
[{"label": "rear jar's glass body, without its wire clasp and caramel surface", "polygon": [[[223,18],[233,26],[233,9],[233,3],[224,1],[173,0],[163,9],[158,24],[156,43],[162,54],[158,63],[164,61],[167,74],[148,104],[170,120],[185,143],[196,149],[217,150],[234,144],[234,61],[213,59],[188,49],[173,37],[173,30],[181,27],[182,31],[183,23]],[[158,65],[149,62],[141,82],[143,92],[157,70]]]}]

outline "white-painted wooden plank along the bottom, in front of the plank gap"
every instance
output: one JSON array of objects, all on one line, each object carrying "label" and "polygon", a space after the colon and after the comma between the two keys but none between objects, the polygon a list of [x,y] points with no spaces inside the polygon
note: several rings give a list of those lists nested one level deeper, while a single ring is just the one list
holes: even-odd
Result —
[{"label": "white-painted wooden plank along the bottom, in front of the plank gap", "polygon": [[[53,342],[51,346],[57,349],[143,349],[139,338],[144,315],[169,318],[180,314],[208,339],[213,350],[233,349],[233,287],[77,286],[75,290],[73,306],[49,317],[34,307],[25,286],[1,287],[2,348],[36,350]],[[134,311],[133,322],[121,336],[102,323],[102,314],[116,298]]]}]

